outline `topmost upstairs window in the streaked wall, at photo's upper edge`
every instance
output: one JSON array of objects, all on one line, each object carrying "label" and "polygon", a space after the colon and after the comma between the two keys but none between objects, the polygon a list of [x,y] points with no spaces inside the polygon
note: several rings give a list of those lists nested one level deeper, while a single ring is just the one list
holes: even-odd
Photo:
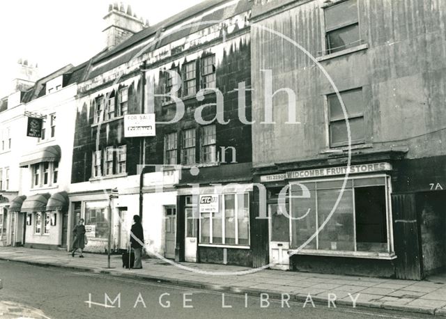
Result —
[{"label": "topmost upstairs window in the streaked wall, at photo's upper edge", "polygon": [[356,0],[325,9],[325,43],[327,54],[361,44]]}]

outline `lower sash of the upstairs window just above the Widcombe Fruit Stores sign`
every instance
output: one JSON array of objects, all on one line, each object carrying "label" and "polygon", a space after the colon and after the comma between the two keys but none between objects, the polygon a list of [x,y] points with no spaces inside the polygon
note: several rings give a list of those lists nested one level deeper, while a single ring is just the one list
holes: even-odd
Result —
[{"label": "lower sash of the upstairs window just above the Widcombe Fruit Stores sign", "polygon": [[[364,141],[364,118],[352,118],[349,120],[351,143]],[[348,143],[347,125],[345,120],[330,123],[330,146]]]}]

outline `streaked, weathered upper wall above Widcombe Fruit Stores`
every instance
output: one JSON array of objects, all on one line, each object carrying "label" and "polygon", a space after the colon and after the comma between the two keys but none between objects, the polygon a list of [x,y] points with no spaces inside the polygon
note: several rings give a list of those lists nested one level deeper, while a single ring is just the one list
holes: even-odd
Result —
[{"label": "streaked, weathered upper wall above Widcombe Fruit Stores", "polygon": [[[280,1],[270,1],[271,3]],[[292,2],[292,1],[282,1]],[[297,1],[299,6],[259,20],[252,26],[253,166],[323,158],[328,148],[324,95],[334,88],[300,49],[270,28],[320,56],[323,48],[322,1]],[[446,151],[446,40],[444,1],[363,0],[359,3],[361,38],[368,49],[321,61],[339,91],[363,88],[366,143],[376,152],[408,147],[408,158]],[[256,12],[254,7],[253,12]],[[271,49],[275,48],[275,49]],[[276,125],[264,120],[263,72],[271,69],[273,91],[292,88],[297,95],[297,120],[287,120],[287,95],[273,102]]]}]

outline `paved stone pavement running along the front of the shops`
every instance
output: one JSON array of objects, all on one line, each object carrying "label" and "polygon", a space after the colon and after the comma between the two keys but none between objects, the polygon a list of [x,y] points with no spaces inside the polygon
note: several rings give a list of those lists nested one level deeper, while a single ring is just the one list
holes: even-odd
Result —
[{"label": "paved stone pavement running along the front of the shops", "polygon": [[[61,267],[83,272],[107,274],[114,277],[172,283],[189,288],[228,291],[270,299],[288,298],[305,301],[308,296],[315,303],[371,307],[426,313],[446,317],[446,282],[410,281],[373,277],[343,276],[260,270],[233,265],[205,263],[179,263],[149,258],[143,260],[142,270],[122,267],[120,255],[112,255],[111,268],[107,268],[107,256],[84,254],[85,258],[72,258],[66,251],[1,247],[0,259],[13,260],[30,265]],[[216,274],[224,272],[224,274]],[[1,276],[1,273],[0,273]],[[284,294],[284,295],[282,295]],[[286,296],[286,297],[284,297]]]}]

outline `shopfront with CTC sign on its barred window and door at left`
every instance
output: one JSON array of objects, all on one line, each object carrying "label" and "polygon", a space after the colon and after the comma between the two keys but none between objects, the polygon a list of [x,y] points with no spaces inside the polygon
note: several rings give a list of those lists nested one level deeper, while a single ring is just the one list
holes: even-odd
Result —
[{"label": "shopfront with CTC sign on its barred window and door at left", "polygon": [[251,267],[252,185],[200,187],[199,194],[191,191],[178,191],[179,260]]}]

